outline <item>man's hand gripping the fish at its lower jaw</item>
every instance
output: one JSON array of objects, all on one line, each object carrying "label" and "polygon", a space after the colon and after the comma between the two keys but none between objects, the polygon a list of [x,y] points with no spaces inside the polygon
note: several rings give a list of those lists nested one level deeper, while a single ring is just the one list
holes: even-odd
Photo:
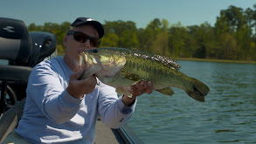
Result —
[{"label": "man's hand gripping the fish at its lower jaw", "polygon": [[78,99],[82,99],[87,93],[93,93],[97,83],[95,76],[90,76],[86,79],[78,80],[82,72],[82,70],[79,72],[73,72],[69,79],[69,85],[66,88],[66,91],[69,94]]}]

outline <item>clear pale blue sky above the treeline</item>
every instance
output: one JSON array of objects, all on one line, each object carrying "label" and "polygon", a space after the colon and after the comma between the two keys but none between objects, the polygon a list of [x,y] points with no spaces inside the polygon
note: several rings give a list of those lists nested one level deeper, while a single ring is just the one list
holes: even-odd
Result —
[{"label": "clear pale blue sky above the treeline", "polygon": [[29,24],[72,23],[77,17],[105,21],[133,21],[145,28],[155,18],[183,26],[208,22],[212,26],[220,10],[230,5],[253,8],[256,0],[0,0],[0,17]]}]

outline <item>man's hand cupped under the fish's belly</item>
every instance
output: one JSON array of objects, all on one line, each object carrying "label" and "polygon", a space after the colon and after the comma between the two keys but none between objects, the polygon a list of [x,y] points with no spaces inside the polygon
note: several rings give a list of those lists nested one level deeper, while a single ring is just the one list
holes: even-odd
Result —
[{"label": "man's hand cupped under the fish's belly", "polygon": [[142,95],[143,93],[152,93],[153,92],[153,86],[150,81],[144,81],[141,80],[135,86],[130,86],[130,91],[129,93],[133,94],[132,98],[128,98],[128,96],[124,96],[122,98],[122,102],[126,106],[132,106],[135,102],[136,97]]}]

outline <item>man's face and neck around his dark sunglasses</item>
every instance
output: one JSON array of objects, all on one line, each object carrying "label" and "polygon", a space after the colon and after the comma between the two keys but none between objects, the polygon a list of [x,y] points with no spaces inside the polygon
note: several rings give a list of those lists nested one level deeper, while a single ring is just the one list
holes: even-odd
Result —
[{"label": "man's face and neck around his dark sunglasses", "polygon": [[[99,38],[98,32],[92,25],[81,25],[78,27],[73,27],[72,31],[80,31],[90,37]],[[74,39],[73,35],[66,35],[63,39],[63,44],[66,47],[66,52],[64,56],[65,62],[73,71],[76,71],[77,69],[73,68],[73,66],[78,67],[80,51],[97,48],[90,45],[89,39],[87,39],[84,43],[80,43],[79,41]]]}]

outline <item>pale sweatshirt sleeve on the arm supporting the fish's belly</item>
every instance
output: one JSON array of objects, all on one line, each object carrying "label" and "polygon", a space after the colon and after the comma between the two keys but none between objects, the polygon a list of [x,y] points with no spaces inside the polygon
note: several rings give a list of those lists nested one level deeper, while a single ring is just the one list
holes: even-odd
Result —
[{"label": "pale sweatshirt sleeve on the arm supporting the fish's belly", "polygon": [[126,106],[121,99],[122,97],[117,97],[114,87],[100,83],[99,113],[107,127],[121,127],[135,112],[136,100],[132,106]]}]

